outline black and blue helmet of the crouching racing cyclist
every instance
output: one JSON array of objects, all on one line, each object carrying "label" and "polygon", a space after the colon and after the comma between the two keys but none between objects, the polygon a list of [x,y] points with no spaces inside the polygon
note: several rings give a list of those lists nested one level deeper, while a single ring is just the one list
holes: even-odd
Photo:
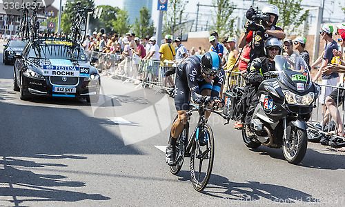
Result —
[{"label": "black and blue helmet of the crouching racing cyclist", "polygon": [[206,75],[217,76],[221,70],[221,58],[215,52],[206,52],[201,58],[201,70]]}]

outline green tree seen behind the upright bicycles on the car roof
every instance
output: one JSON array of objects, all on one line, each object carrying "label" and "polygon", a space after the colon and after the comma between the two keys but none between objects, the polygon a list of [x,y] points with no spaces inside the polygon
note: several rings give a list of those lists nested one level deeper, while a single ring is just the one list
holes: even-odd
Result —
[{"label": "green tree seen behind the upright bicycles on the car roof", "polygon": [[[95,8],[94,0],[78,0],[81,1],[80,6],[86,8]],[[70,32],[70,26],[72,24],[73,12],[77,6],[78,1],[66,1],[66,6],[63,9],[63,14],[61,15],[61,28],[63,32]],[[97,24],[97,20],[90,16],[90,23]]]}]

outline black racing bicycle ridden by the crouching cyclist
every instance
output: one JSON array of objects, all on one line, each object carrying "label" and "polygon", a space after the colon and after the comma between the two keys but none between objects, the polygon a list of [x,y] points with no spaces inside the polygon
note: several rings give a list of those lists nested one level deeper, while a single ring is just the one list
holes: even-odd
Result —
[{"label": "black racing bicycle ridden by the crouching cyclist", "polygon": [[[197,126],[190,135],[188,139],[188,130],[189,130],[189,121],[192,112],[199,112],[199,121]],[[222,115],[220,112],[214,110],[214,108],[207,108],[204,104],[195,106],[190,104],[190,110],[186,112],[189,116],[187,123],[184,125],[184,130],[181,132],[181,135],[177,137],[176,141],[176,151],[175,151],[175,160],[177,164],[175,166],[169,166],[170,172],[173,175],[177,175],[179,170],[181,170],[182,164],[184,163],[185,157],[190,157],[190,178],[193,184],[193,187],[198,192],[204,190],[210,179],[210,175],[213,168],[213,159],[215,155],[215,143],[213,137],[213,131],[210,125],[206,123],[205,120],[205,111],[214,112],[217,115],[221,116],[223,119],[226,119],[226,124],[229,124],[230,117]],[[175,117],[175,120],[177,117]],[[174,120],[174,121],[175,121]],[[204,138],[204,136],[205,138]],[[200,144],[199,139],[206,139],[206,144]],[[199,160],[199,166],[197,166]],[[202,171],[203,161],[207,161],[206,171]],[[197,170],[196,170],[197,169]]]}]

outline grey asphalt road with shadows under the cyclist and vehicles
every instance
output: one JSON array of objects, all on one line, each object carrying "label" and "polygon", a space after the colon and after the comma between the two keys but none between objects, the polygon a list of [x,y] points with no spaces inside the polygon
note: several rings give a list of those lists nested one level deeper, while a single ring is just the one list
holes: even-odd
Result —
[{"label": "grey asphalt road with shadows under the cyclist and vehicles", "polygon": [[12,72],[1,63],[0,206],[345,205],[344,152],[309,143],[288,164],[282,149],[246,148],[234,122],[213,115],[213,175],[197,193],[188,159],[177,176],[165,163],[175,108],[157,88],[102,76],[97,104],[21,101]]}]

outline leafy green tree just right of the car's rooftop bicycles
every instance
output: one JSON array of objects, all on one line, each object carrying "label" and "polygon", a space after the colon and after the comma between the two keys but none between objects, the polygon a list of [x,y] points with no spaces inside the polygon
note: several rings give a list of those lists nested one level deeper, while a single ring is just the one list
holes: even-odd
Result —
[{"label": "leafy green tree just right of the car's rooftop bicycles", "polygon": [[118,7],[112,7],[108,5],[97,6],[97,8],[103,8],[101,17],[99,18],[100,28],[104,28],[106,32],[113,30],[112,21],[117,19]]}]

